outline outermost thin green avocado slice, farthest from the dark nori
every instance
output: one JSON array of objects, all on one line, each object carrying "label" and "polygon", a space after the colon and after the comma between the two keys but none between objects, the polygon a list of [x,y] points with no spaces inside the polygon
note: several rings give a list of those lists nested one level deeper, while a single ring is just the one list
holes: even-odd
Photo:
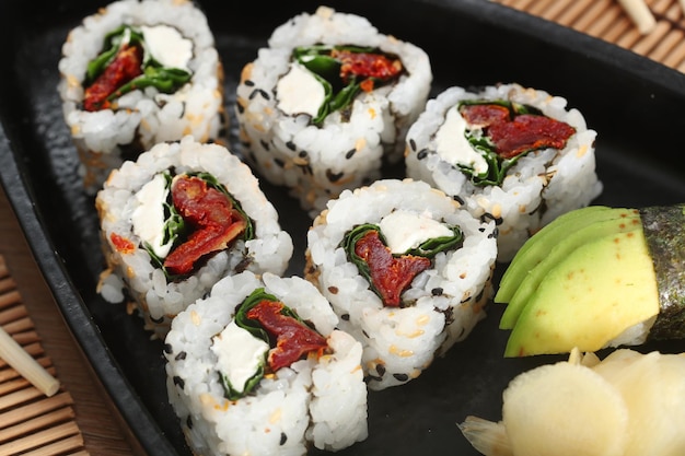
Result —
[{"label": "outermost thin green avocado slice, farthest from the dark nori", "polygon": [[543,226],[516,252],[499,282],[495,302],[510,302],[529,271],[542,261],[555,245],[568,237],[570,230],[579,230],[595,221],[614,219],[618,217],[615,213],[617,210],[606,206],[588,206],[566,212]]}]

